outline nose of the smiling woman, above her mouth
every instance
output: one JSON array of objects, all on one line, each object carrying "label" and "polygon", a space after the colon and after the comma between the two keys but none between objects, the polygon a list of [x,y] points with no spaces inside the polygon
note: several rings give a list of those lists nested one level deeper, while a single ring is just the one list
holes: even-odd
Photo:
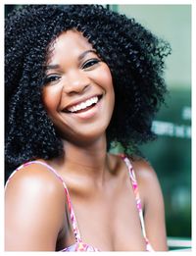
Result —
[{"label": "nose of the smiling woman, above her mouth", "polygon": [[90,79],[80,70],[70,71],[65,78],[64,92],[67,94],[82,93],[90,84]]}]

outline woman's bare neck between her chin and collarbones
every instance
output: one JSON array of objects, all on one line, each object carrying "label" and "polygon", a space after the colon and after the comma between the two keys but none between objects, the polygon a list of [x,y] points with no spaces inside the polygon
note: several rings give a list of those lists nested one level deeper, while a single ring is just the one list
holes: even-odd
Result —
[{"label": "woman's bare neck between her chin and collarbones", "polygon": [[104,182],[108,170],[106,136],[88,145],[75,145],[64,141],[65,156],[62,166],[67,173],[77,177]]}]

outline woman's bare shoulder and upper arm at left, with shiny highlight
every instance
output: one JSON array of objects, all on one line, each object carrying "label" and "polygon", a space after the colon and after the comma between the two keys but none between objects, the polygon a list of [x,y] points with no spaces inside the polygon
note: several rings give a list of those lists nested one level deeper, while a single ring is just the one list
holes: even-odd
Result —
[{"label": "woman's bare shoulder and upper arm at left, with shiny highlight", "polygon": [[47,168],[18,171],[5,192],[5,250],[55,251],[65,204],[64,188]]}]

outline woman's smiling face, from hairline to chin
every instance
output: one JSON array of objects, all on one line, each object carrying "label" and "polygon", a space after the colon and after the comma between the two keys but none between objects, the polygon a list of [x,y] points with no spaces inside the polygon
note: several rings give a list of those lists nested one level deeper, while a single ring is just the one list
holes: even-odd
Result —
[{"label": "woman's smiling face, from hairline to chin", "polygon": [[62,138],[72,142],[105,133],[115,104],[111,72],[76,30],[60,34],[46,65],[43,103]]}]

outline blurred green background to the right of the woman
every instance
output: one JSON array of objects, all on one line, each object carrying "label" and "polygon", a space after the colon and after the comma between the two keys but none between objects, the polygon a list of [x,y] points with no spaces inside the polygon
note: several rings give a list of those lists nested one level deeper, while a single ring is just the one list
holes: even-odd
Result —
[{"label": "blurred green background to the right of the woman", "polygon": [[[6,5],[7,15],[18,5]],[[167,106],[153,129],[158,139],[141,146],[164,193],[169,238],[191,239],[191,5],[106,5],[171,43],[166,81]],[[181,242],[183,244],[183,242]],[[186,246],[184,246],[186,247]],[[172,244],[170,245],[172,249]],[[177,248],[177,246],[173,246]],[[180,246],[178,247],[180,248]]]}]

